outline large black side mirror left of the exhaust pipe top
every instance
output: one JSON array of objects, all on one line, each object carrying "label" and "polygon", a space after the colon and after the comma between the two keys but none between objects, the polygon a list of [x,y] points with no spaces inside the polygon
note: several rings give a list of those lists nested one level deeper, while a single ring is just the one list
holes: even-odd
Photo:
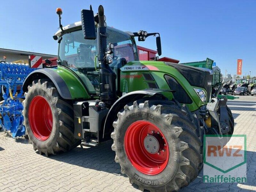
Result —
[{"label": "large black side mirror left of the exhaust pipe top", "polygon": [[90,6],[90,10],[81,10],[81,22],[84,39],[96,39],[94,14],[92,11],[92,6]]}]

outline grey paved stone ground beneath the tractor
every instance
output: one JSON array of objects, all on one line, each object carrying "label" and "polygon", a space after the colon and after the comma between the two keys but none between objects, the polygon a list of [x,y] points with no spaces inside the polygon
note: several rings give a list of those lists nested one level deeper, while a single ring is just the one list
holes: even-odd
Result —
[{"label": "grey paved stone ground beneath the tractor", "polygon": [[[256,191],[256,96],[230,100],[234,134],[247,134],[247,183],[203,183],[201,172],[182,191]],[[120,173],[112,141],[98,147],[77,147],[56,156],[41,156],[28,140],[0,131],[0,191],[139,191]]]}]

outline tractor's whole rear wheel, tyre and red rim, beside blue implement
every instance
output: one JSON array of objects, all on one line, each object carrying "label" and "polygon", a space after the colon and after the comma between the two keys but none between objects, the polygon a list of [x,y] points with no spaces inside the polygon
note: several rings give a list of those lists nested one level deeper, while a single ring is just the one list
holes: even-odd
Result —
[{"label": "tractor's whole rear wheel, tyre and red rim, beside blue implement", "polygon": [[24,124],[29,143],[46,156],[76,148],[81,140],[74,138],[73,107],[60,98],[52,82],[33,81],[23,101]]}]

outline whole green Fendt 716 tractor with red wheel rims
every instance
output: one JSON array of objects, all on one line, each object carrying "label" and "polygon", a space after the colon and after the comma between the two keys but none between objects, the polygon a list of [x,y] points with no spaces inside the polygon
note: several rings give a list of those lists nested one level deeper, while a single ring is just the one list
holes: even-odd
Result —
[{"label": "whole green Fendt 716 tractor with red wheel rims", "polygon": [[148,36],[161,55],[158,33],[107,27],[101,5],[96,15],[82,10],[81,22],[60,23],[58,67],[32,72],[23,85],[34,150],[48,156],[112,138],[121,172],[142,191],[178,191],[193,181],[204,134],[230,135],[234,119],[220,90],[211,94],[212,70],[139,61],[135,37]]}]

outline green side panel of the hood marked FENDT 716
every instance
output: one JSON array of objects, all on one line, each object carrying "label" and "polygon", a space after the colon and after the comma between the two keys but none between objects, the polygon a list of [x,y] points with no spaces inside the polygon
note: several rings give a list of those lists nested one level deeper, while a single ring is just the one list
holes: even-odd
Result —
[{"label": "green side panel of the hood marked FENDT 716", "polygon": [[[128,62],[121,68],[120,90],[121,92],[132,92],[148,88],[170,89],[164,78],[164,75],[173,77],[187,92],[188,96],[193,101],[192,104],[186,104],[190,111],[195,111],[202,105],[207,104],[200,100],[195,90],[193,89],[200,87],[191,86],[187,79],[177,69],[166,65],[162,61]],[[168,95],[165,96],[167,96],[169,99],[174,98],[172,93],[166,94]]]}]

